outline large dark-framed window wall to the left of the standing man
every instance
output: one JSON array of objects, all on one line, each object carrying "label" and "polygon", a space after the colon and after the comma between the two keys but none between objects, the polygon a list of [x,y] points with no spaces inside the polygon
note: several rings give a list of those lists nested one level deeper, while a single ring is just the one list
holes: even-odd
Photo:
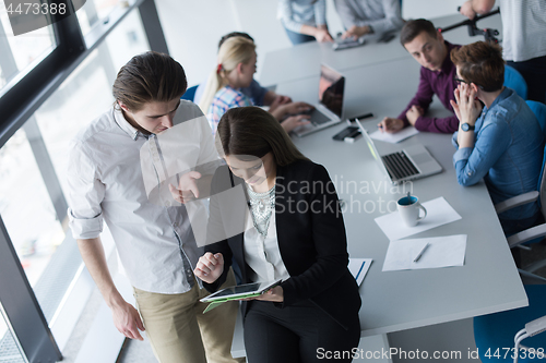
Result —
[{"label": "large dark-framed window wall to the left of the standing man", "polygon": [[59,316],[82,266],[67,220],[69,142],[111,107],[122,64],[166,50],[153,0],[87,0],[76,15],[14,37],[0,0],[0,362],[60,359],[57,324],[70,326]]}]

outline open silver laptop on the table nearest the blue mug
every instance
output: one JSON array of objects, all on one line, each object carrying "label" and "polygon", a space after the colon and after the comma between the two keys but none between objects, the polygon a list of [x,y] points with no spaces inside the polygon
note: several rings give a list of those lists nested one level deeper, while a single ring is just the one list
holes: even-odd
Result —
[{"label": "open silver laptop on the table nearest the blue mug", "polygon": [[376,144],[373,144],[360,121],[356,120],[356,123],[360,128],[373,159],[393,184],[437,174],[442,171],[442,167],[423,145],[413,145],[400,152],[383,156],[379,155]]}]

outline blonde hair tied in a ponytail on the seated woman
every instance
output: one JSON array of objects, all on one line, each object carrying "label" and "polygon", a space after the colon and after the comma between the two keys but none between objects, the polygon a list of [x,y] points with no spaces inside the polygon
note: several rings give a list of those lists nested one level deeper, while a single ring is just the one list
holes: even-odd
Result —
[{"label": "blonde hair tied in a ponytail on the seated woman", "polygon": [[247,64],[256,52],[252,40],[244,37],[233,37],[224,41],[218,50],[218,58],[214,71],[209,76],[209,82],[199,102],[203,113],[209,112],[214,95],[228,84],[227,75],[237,68],[239,63]]}]

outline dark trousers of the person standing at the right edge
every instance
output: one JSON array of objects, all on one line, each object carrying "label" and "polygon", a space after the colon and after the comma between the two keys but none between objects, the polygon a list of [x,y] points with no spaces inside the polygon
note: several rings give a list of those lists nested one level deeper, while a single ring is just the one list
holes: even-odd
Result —
[{"label": "dark trousers of the person standing at the right edge", "polygon": [[546,104],[546,56],[523,62],[508,61],[521,73],[527,84],[527,99]]}]

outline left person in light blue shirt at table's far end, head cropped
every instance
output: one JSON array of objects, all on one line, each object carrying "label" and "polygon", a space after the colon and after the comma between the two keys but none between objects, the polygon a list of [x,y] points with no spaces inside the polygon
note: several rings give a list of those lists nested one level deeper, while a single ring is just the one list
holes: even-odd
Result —
[{"label": "left person in light blue shirt at table's far end, head cropped", "polygon": [[333,41],[328,32],[325,0],[278,0],[278,19],[293,45]]}]

